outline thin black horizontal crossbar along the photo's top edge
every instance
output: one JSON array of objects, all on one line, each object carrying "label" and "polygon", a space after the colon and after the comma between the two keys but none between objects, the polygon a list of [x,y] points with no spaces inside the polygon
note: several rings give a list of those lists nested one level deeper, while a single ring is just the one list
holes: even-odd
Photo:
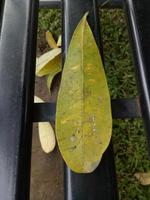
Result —
[{"label": "thin black horizontal crossbar along the photo's top edge", "polygon": [[[122,8],[122,0],[98,0],[102,8]],[[60,8],[61,0],[40,0],[40,8]]]}]

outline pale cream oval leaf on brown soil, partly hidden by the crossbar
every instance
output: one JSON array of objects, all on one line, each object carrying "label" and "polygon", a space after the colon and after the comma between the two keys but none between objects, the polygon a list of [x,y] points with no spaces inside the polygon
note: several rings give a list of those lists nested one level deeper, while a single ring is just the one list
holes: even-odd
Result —
[{"label": "pale cream oval leaf on brown soil, partly hidden by the crossbar", "polygon": [[[34,102],[42,103],[44,101],[35,96]],[[49,122],[39,122],[38,129],[41,147],[45,153],[50,153],[54,150],[56,145],[54,130]]]}]

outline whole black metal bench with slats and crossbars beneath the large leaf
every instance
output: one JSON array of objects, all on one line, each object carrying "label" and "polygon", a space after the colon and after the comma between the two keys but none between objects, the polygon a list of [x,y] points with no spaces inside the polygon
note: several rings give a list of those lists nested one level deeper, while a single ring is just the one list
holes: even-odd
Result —
[{"label": "whole black metal bench with slats and crossbars beneath the large leaf", "polygon": [[[97,3],[126,12],[139,100],[112,100],[113,118],[142,116],[150,150],[149,0],[41,0],[40,6],[63,9],[64,60],[75,26],[87,10],[102,50]],[[29,199],[32,123],[55,120],[55,104],[33,104],[37,14],[36,0],[0,2],[0,200]],[[66,200],[118,199],[112,143],[94,173],[75,174],[66,166],[64,171]]]}]

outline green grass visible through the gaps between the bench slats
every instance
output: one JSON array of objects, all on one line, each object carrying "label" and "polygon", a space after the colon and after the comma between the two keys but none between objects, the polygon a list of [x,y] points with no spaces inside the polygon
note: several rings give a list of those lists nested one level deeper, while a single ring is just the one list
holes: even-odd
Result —
[{"label": "green grass visible through the gaps between the bench slats", "polygon": [[[137,95],[127,27],[121,10],[102,10],[102,40],[105,70],[112,98]],[[61,32],[60,11],[39,13],[38,51],[47,49],[44,34],[51,30],[55,37]],[[141,186],[135,172],[150,170],[146,137],[141,120],[114,120],[113,143],[120,200],[148,200],[150,186]]]}]

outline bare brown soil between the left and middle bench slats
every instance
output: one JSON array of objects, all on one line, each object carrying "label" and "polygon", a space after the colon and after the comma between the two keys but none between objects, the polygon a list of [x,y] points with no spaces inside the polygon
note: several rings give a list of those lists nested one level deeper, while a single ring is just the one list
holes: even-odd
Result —
[{"label": "bare brown soil between the left and middle bench slats", "polygon": [[[35,93],[45,101],[55,101],[57,86],[53,97],[49,97],[45,78],[37,78]],[[52,124],[54,127],[54,124]],[[45,154],[40,146],[38,124],[33,127],[31,200],[63,200],[63,161],[58,148]]]}]

